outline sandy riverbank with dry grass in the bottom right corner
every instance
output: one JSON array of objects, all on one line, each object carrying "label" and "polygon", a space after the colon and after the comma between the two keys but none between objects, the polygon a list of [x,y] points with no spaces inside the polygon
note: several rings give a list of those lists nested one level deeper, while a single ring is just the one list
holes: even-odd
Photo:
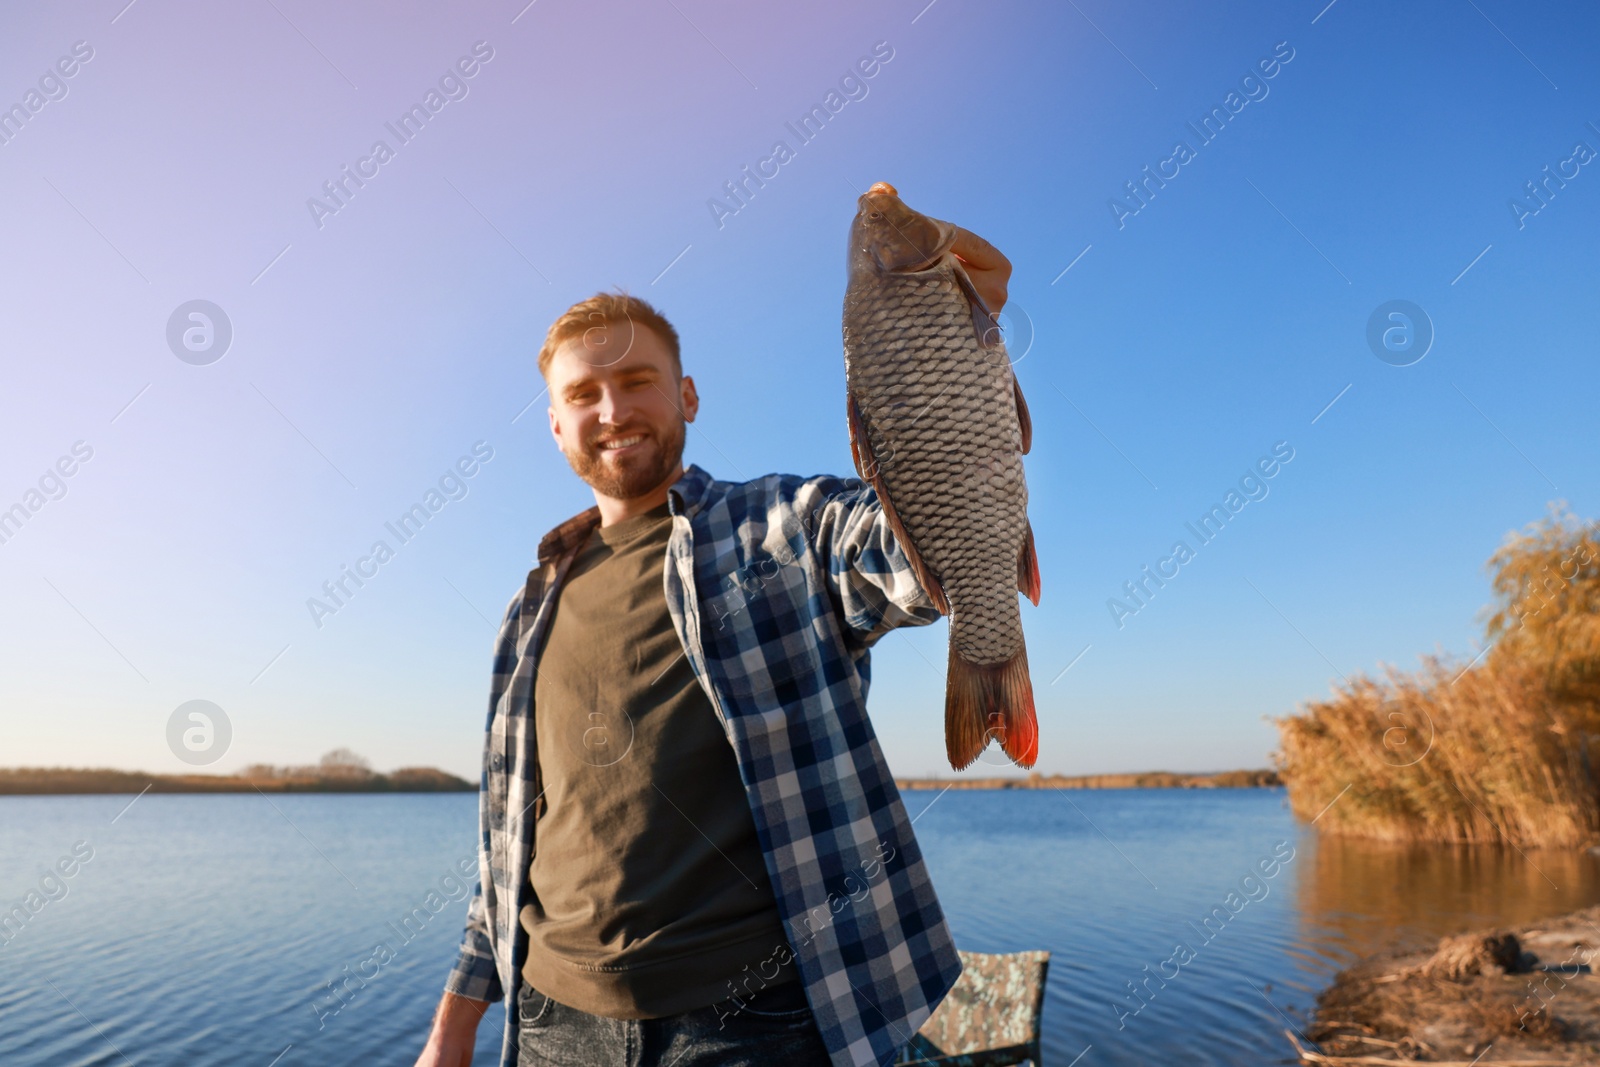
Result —
[{"label": "sandy riverbank with dry grass in the bottom right corner", "polygon": [[1304,1037],[1307,1064],[1600,1062],[1600,907],[1445,937],[1341,971]]}]

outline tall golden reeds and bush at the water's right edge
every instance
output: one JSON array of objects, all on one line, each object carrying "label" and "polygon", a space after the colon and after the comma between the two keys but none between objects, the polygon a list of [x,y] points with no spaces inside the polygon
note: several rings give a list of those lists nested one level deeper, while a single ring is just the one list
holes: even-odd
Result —
[{"label": "tall golden reeds and bush at the water's right edge", "polygon": [[1357,675],[1280,718],[1294,813],[1397,841],[1600,843],[1597,534],[1552,504],[1490,557],[1477,659]]}]

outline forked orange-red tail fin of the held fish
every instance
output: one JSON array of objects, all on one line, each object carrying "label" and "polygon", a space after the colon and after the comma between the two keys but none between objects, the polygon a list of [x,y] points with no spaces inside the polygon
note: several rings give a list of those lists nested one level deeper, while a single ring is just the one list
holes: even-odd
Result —
[{"label": "forked orange-red tail fin of the held fish", "polygon": [[970,766],[990,741],[998,741],[1000,750],[1018,766],[1034,766],[1038,758],[1027,648],[1003,662],[979,665],[962,659],[950,645],[944,681],[944,749],[950,768]]}]

